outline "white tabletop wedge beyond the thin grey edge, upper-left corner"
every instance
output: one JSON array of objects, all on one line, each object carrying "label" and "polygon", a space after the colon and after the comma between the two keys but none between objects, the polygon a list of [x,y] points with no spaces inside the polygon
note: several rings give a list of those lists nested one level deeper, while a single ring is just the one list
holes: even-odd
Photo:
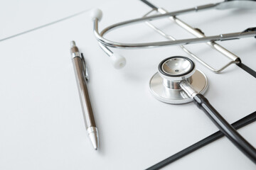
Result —
[{"label": "white tabletop wedge beyond the thin grey edge, upper-left corner", "polygon": [[103,0],[4,0],[0,6],[0,40],[26,30],[58,21],[92,7],[105,4]]}]

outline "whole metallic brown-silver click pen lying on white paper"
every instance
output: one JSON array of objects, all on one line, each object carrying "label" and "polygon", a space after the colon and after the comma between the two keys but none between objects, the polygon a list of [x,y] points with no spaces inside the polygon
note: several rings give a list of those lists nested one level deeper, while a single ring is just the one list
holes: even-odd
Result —
[{"label": "whole metallic brown-silver click pen lying on white paper", "polygon": [[87,89],[88,72],[85,59],[83,55],[80,55],[78,47],[75,45],[75,41],[71,42],[71,58],[73,61],[73,67],[75,69],[75,78],[78,84],[78,91],[80,96],[80,102],[82,105],[82,115],[85,121],[85,128],[92,142],[92,146],[97,150],[99,146],[99,135],[97,132],[95,118],[92,112],[92,106],[90,103],[89,93]]}]

